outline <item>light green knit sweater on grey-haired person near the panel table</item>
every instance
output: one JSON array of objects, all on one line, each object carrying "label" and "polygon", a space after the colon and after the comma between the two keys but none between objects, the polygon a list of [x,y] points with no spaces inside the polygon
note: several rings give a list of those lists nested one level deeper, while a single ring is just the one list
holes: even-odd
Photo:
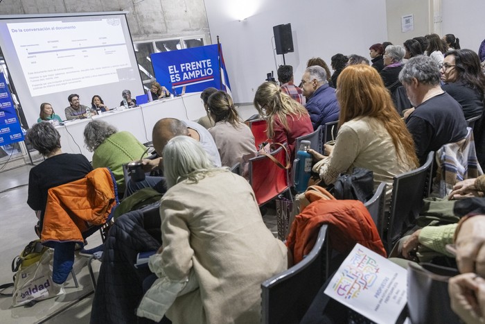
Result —
[{"label": "light green knit sweater on grey-haired person near the panel table", "polygon": [[93,167],[108,167],[114,173],[118,192],[125,192],[123,164],[139,160],[146,147],[131,133],[119,132],[108,137],[94,150]]}]

